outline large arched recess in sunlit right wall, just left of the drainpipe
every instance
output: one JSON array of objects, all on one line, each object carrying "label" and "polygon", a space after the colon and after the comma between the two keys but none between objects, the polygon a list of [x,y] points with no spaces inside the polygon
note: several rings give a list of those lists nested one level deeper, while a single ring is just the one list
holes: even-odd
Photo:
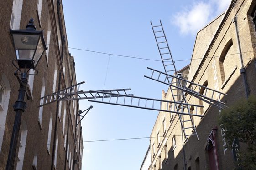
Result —
[{"label": "large arched recess in sunlit right wall, just left of the drainpipe", "polygon": [[231,55],[232,53],[233,41],[232,39],[230,39],[225,45],[219,57],[221,83],[224,83],[224,81],[227,79],[228,76],[230,76],[231,72],[233,71],[234,65],[232,65],[232,63],[234,62],[232,62],[232,60],[234,59],[234,56]]}]

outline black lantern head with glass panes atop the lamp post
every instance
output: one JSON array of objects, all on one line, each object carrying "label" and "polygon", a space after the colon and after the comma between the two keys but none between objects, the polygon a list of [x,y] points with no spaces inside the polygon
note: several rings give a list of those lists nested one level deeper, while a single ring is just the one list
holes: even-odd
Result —
[{"label": "black lantern head with glass panes atop the lamp post", "polygon": [[19,67],[36,68],[43,52],[47,50],[43,30],[37,31],[31,18],[25,30],[10,30],[10,34]]}]

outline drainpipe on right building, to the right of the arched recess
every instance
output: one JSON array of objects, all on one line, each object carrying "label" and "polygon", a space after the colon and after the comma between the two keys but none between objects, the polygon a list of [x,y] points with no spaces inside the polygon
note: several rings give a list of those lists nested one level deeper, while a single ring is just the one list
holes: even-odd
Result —
[{"label": "drainpipe on right building, to the right of the arched recess", "polygon": [[238,45],[238,50],[239,50],[239,54],[240,54],[240,61],[241,61],[240,73],[243,76],[246,98],[248,98],[249,97],[249,87],[248,87],[248,83],[247,83],[247,79],[246,79],[246,70],[244,68],[244,63],[243,63],[243,58],[242,58],[242,52],[241,52],[241,46],[240,46],[240,40],[239,40],[239,34],[238,34],[238,28],[237,28],[237,17],[236,17],[236,15],[235,15],[235,18],[233,19],[233,23],[235,23],[237,45]]}]

